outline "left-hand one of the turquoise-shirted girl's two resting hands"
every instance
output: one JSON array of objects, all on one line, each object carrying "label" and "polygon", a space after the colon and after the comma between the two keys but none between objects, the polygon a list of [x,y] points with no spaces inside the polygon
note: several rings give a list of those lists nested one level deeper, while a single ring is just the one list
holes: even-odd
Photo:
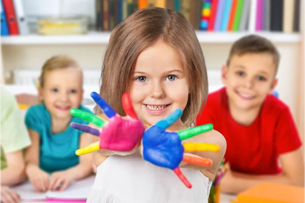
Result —
[{"label": "left-hand one of the turquoise-shirted girl's two resting hands", "polygon": [[41,170],[38,165],[28,165],[26,175],[37,192],[46,192],[49,189],[49,174]]}]

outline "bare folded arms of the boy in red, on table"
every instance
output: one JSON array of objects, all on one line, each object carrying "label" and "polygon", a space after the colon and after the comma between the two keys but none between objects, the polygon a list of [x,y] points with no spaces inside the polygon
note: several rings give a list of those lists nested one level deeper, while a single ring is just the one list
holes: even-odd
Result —
[{"label": "bare folded arms of the boy in red, on table", "polygon": [[279,175],[249,175],[228,171],[221,181],[222,192],[239,193],[263,182],[304,187],[301,149],[280,155],[283,172]]}]

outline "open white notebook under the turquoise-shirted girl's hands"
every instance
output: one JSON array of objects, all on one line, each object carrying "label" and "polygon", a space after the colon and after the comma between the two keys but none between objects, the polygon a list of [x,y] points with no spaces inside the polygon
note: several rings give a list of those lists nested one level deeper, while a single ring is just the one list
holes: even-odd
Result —
[{"label": "open white notebook under the turquoise-shirted girl's hands", "polygon": [[25,182],[12,187],[22,202],[46,201],[46,202],[85,202],[94,183],[95,176],[72,182],[65,191],[36,192],[31,183]]}]

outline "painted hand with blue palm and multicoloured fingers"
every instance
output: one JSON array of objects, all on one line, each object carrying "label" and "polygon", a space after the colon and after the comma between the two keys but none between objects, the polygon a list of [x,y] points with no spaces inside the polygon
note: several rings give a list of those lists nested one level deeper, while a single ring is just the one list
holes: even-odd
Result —
[{"label": "painted hand with blue palm and multicoloured fingers", "polygon": [[199,156],[185,154],[184,152],[218,152],[220,148],[215,144],[181,143],[181,141],[196,136],[197,134],[212,130],[212,124],[179,130],[178,132],[165,131],[165,129],[172,125],[181,115],[182,110],[177,109],[168,117],[160,120],[144,132],[142,139],[142,156],[146,161],[155,165],[170,168],[188,188],[191,188],[192,185],[180,171],[180,162],[210,166],[212,161]]}]

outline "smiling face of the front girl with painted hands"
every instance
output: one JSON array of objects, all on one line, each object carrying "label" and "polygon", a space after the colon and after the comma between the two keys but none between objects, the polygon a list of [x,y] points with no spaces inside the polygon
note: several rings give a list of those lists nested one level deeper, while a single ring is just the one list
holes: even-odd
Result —
[{"label": "smiling face of the front girl with painted hands", "polygon": [[[188,74],[179,55],[158,42],[137,58],[130,96],[133,107],[143,122],[154,125],[175,109],[188,103]],[[176,124],[182,124],[179,119]]]}]

